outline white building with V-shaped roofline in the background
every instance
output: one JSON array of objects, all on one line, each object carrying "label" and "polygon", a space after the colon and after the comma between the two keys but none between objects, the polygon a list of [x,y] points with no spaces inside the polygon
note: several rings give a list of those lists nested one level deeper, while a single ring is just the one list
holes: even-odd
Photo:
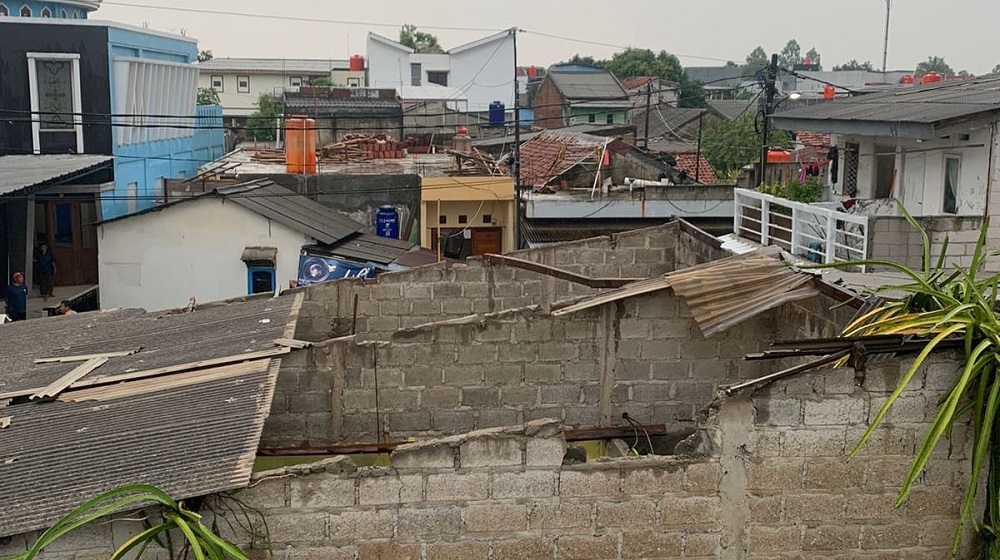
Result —
[{"label": "white building with V-shaped roofline in the background", "polygon": [[[490,103],[514,106],[514,36],[504,31],[444,53],[418,53],[392,39],[368,34],[368,85],[396,88],[436,84],[468,100],[470,111]],[[402,93],[402,92],[401,92]]]}]

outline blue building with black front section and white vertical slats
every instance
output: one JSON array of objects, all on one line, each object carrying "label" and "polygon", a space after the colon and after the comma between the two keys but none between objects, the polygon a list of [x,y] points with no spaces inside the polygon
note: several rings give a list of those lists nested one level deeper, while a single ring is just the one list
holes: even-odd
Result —
[{"label": "blue building with black front section and white vertical slats", "polygon": [[[0,3],[10,9],[10,0]],[[49,7],[46,14],[65,6],[69,14],[70,7],[93,9],[99,2],[28,4],[33,14],[38,6]],[[16,236],[6,235],[8,254],[17,256],[11,263],[23,262],[19,255],[30,263],[32,248],[47,242],[60,262],[74,263],[66,274],[77,273],[57,277],[57,285],[97,283],[95,222],[164,201],[168,180],[193,177],[225,149],[221,108],[197,105],[195,40],[85,16],[0,15],[0,159],[110,160],[110,174],[90,173],[71,187],[35,187],[30,200],[17,185],[0,192],[6,221],[18,224]]]}]

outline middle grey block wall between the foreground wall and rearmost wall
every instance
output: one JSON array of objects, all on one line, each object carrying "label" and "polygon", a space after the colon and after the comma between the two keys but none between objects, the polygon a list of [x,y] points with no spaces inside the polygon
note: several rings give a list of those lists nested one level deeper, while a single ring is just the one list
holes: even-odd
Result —
[{"label": "middle grey block wall between the foreground wall and rearmost wall", "polygon": [[770,372],[742,358],[778,332],[775,317],[705,339],[683,300],[661,291],[562,317],[521,309],[384,343],[336,341],[283,360],[262,445],[440,436],[543,417],[615,426],[625,412],[682,432],[719,385]]}]

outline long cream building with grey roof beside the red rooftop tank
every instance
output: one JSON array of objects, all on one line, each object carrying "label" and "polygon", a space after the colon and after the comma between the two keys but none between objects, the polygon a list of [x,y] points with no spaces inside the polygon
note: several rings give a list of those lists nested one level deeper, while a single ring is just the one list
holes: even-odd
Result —
[{"label": "long cream building with grey roof beside the red rooftop tank", "polygon": [[[363,66],[363,64],[361,64]],[[365,72],[349,60],[283,58],[213,58],[198,63],[198,86],[219,94],[223,116],[246,117],[257,110],[261,94],[281,95],[285,88],[327,78],[335,87],[364,87]]]}]

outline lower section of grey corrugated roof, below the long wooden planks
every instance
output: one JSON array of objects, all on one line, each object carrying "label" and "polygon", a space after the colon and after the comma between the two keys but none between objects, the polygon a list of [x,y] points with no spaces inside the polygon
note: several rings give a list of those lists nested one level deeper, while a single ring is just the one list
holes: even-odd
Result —
[{"label": "lower section of grey corrugated roof, below the long wooden planks", "polygon": [[245,486],[278,371],[268,361],[99,402],[2,409],[11,423],[0,430],[0,537],[48,527],[124,484],[154,484],[176,499]]}]

